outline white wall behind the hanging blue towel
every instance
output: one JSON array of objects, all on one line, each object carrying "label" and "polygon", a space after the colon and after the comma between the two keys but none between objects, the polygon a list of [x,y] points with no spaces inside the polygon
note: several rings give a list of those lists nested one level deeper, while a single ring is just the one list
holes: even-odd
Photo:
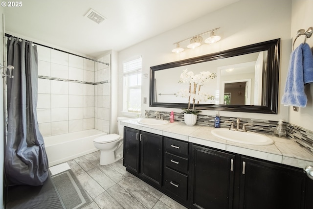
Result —
[{"label": "white wall behind the hanging blue towel", "polygon": [[[292,0],[291,13],[291,38],[292,41],[299,29],[307,30],[313,26],[313,1],[312,0]],[[304,36],[297,38],[294,47],[299,46],[304,41]],[[307,43],[313,47],[313,37],[307,39]],[[299,108],[299,112],[289,109],[289,122],[313,131],[313,84],[305,86],[305,93],[308,103],[305,108]]]}]

